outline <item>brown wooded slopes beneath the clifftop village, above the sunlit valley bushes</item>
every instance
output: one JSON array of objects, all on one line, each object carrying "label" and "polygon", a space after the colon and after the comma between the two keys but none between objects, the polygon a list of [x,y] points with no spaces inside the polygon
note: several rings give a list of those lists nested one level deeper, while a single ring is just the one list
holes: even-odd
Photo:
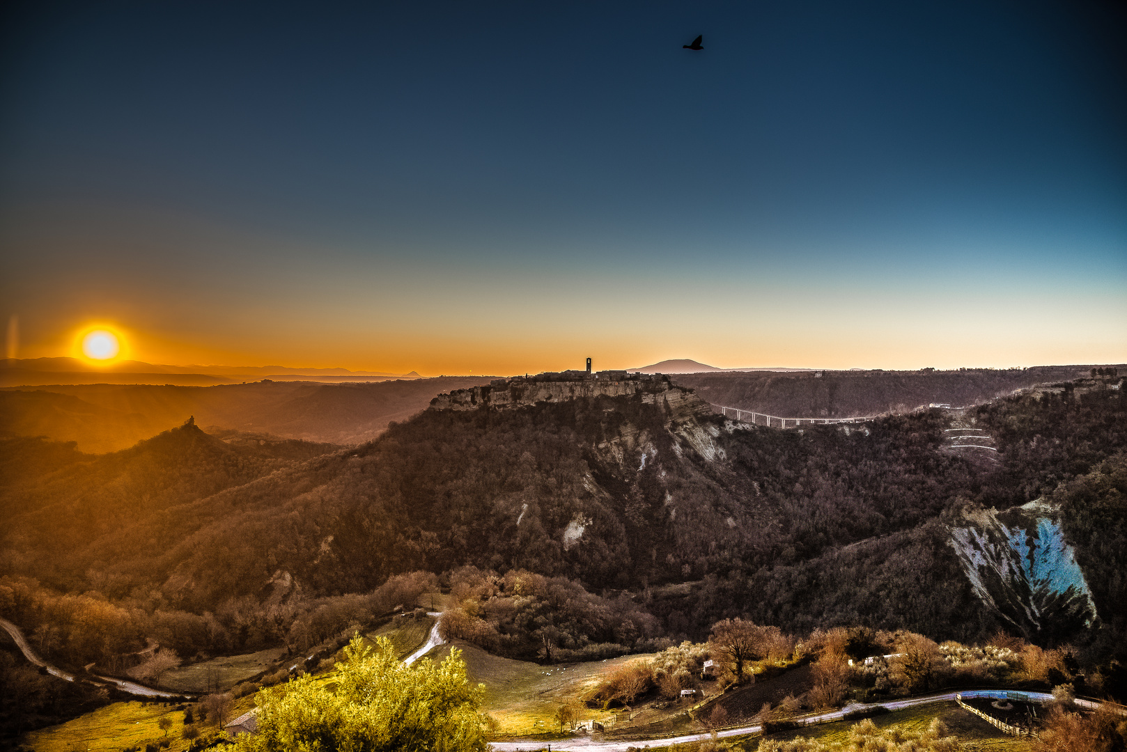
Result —
[{"label": "brown wooded slopes beneath the clifftop village, above the sunlit valley bushes", "polygon": [[[973,640],[1000,625],[957,568],[944,515],[1075,488],[1066,532],[1089,576],[1104,576],[1127,548],[1124,413],[1100,380],[967,410],[959,419],[997,442],[991,461],[947,449],[940,409],[779,431],[640,396],[427,410],[328,454],[281,457],[190,425],[95,458],[9,440],[26,470],[0,492],[0,574],[153,613],[266,618],[286,599],[473,565],[628,591],[656,617],[648,636],[700,639],[743,614]],[[1095,604],[1121,636],[1122,589],[1107,577]],[[694,584],[656,587],[676,583]]]}]

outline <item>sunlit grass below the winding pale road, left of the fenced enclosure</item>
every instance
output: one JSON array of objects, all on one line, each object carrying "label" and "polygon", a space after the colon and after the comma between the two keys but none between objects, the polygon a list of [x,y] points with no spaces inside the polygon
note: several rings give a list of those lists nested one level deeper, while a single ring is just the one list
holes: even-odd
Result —
[{"label": "sunlit grass below the winding pale road, left of the fenced enclosure", "polygon": [[[909,732],[925,729],[933,718],[939,718],[947,725],[948,734],[964,742],[967,752],[1031,752],[1032,743],[1003,734],[978,716],[967,713],[955,702],[925,705],[897,713],[889,713],[872,718],[880,728],[896,726]],[[857,722],[841,720],[833,724],[809,726],[801,731],[778,732],[763,738],[791,740],[799,736],[815,738],[819,742],[848,742],[849,729]],[[745,749],[758,749],[760,740],[749,740]]]}]

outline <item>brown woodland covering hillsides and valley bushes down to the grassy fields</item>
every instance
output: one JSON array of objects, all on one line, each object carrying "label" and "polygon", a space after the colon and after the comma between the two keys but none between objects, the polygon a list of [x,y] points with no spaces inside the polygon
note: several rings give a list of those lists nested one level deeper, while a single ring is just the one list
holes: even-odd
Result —
[{"label": "brown woodland covering hillsides and valley bushes down to the grassy fields", "polygon": [[[938,409],[782,432],[624,398],[428,410],[290,458],[194,425],[105,455],[0,437],[0,616],[80,675],[160,684],[277,651],[236,687],[216,679],[211,695],[234,704],[291,667],[327,667],[438,590],[442,635],[498,655],[653,656],[583,698],[592,707],[795,665],[814,676],[808,707],[956,684],[1125,698],[1121,384],[968,408],[960,419],[996,441],[988,459],[946,449]],[[959,568],[961,515],[1037,498],[1059,510],[1090,625],[1008,621]],[[913,657],[858,664],[893,654]],[[24,711],[5,716],[9,737],[81,705],[37,690],[10,655],[0,683]],[[701,679],[706,655],[719,665]]]}]

